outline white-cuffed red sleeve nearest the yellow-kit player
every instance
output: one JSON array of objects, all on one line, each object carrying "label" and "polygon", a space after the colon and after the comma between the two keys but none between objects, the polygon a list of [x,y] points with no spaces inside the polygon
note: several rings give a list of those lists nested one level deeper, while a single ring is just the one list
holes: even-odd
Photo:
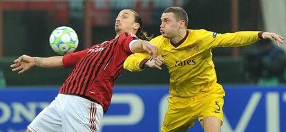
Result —
[{"label": "white-cuffed red sleeve nearest the yellow-kit player", "polygon": [[138,40],[137,36],[133,33],[123,32],[120,34],[118,44],[126,52],[126,54],[133,54],[130,49],[130,44],[132,41]]}]

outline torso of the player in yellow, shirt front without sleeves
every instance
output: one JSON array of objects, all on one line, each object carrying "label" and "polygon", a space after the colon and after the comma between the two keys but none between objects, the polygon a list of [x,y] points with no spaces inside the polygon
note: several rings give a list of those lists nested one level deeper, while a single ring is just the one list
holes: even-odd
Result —
[{"label": "torso of the player in yellow, shirt front without sleeves", "polygon": [[169,39],[158,40],[164,42],[159,52],[169,69],[171,94],[192,96],[216,81],[210,46],[191,33],[178,47],[171,45]]}]

